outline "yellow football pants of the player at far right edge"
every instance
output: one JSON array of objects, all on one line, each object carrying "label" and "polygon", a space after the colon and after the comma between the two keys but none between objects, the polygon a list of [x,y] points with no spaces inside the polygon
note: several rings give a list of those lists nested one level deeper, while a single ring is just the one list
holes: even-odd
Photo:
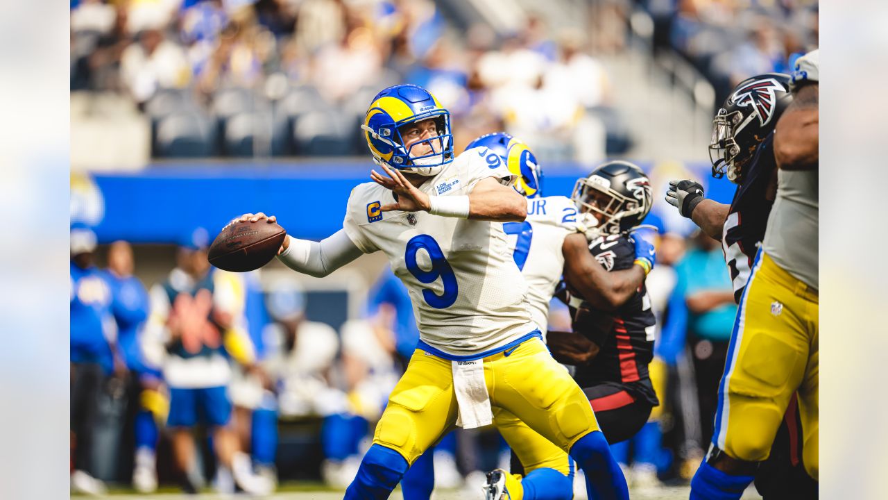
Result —
[{"label": "yellow football pants of the player at far right edge", "polygon": [[718,390],[713,443],[765,460],[798,391],[805,471],[818,479],[818,297],[762,252],[753,266]]}]

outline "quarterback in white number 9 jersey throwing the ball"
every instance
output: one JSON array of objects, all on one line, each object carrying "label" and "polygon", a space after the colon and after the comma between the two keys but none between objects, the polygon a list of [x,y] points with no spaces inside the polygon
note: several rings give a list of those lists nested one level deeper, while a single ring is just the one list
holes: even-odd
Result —
[{"label": "quarterback in white number 9 jersey throwing the ball", "polygon": [[326,276],[382,251],[416,310],[417,349],[345,498],[387,498],[426,448],[456,425],[491,423],[493,407],[569,452],[590,496],[629,498],[583,391],[530,318],[501,223],[524,221],[527,202],[500,157],[483,148],[454,157],[447,109],[416,85],[378,93],[361,128],[385,175],[352,191],[343,230],[321,242],[289,236],[279,255]]}]

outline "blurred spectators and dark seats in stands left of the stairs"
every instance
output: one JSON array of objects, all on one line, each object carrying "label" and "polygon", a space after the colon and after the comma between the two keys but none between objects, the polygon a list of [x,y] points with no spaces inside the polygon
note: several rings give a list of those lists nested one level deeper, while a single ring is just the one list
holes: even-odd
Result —
[{"label": "blurred spectators and dark seats in stands left of the stairs", "polygon": [[429,0],[87,1],[71,20],[72,90],[130,95],[155,157],[358,154],[367,103],[404,81],[449,103],[457,147],[505,126],[571,157],[577,125],[608,104],[582,33],[556,41],[530,17],[508,36],[457,34]]}]

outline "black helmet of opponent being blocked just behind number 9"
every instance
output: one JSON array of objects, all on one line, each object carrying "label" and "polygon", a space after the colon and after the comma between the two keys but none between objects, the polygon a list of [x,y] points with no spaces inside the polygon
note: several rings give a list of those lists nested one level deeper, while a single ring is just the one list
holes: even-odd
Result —
[{"label": "black helmet of opponent being blocked just behind number 9", "polygon": [[597,225],[606,234],[638,226],[654,204],[651,181],[638,165],[628,161],[607,162],[577,179],[570,198],[580,214],[602,215]]}]

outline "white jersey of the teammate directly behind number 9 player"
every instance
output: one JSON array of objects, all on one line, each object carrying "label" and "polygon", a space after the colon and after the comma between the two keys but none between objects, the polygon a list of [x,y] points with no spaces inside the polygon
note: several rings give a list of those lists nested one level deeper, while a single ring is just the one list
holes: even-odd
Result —
[{"label": "white jersey of the teammate directly behind number 9 player", "polygon": [[561,247],[575,232],[576,206],[562,196],[527,200],[527,220],[507,222],[515,263],[527,280],[527,301],[534,322],[544,333],[549,323],[549,302],[564,270]]}]

